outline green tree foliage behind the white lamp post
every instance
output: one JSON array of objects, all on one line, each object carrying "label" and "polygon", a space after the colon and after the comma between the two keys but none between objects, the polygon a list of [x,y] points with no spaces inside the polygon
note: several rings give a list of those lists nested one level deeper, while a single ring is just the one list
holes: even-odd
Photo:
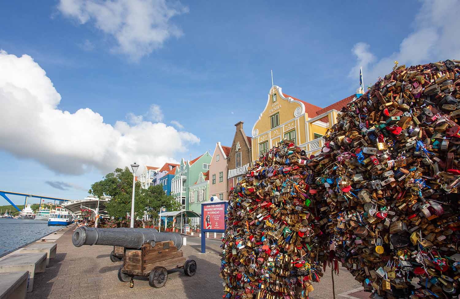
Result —
[{"label": "green tree foliage behind the white lamp post", "polygon": [[[144,212],[156,217],[161,207],[169,211],[180,209],[180,203],[173,196],[167,196],[162,185],[150,186],[149,189],[142,189],[140,182],[136,182],[134,190],[134,215],[142,218]],[[98,196],[110,196],[106,204],[106,211],[109,216],[125,218],[131,213],[132,198],[132,172],[128,167],[116,168],[113,173],[107,174],[101,181],[91,185],[89,193]]]}]

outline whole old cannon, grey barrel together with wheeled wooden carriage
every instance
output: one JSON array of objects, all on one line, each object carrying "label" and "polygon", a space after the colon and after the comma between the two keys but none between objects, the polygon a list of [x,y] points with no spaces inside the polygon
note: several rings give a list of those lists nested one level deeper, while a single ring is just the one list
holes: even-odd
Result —
[{"label": "whole old cannon, grey barrel together with wheeled wooden carriage", "polygon": [[113,228],[102,229],[80,226],[72,235],[75,247],[83,245],[114,246],[110,253],[112,262],[121,261],[118,270],[121,282],[134,282],[134,276],[149,276],[150,286],[161,288],[167,281],[167,270],[184,269],[184,274],[196,273],[196,262],[185,260],[182,236],[178,233],[158,232],[154,229]]}]

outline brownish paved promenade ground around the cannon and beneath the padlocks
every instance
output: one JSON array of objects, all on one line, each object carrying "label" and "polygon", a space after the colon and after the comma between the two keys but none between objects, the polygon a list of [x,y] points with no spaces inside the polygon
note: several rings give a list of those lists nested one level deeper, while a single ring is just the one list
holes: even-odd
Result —
[{"label": "brownish paved promenade ground around the cannon and beneath the padlocks", "polygon": [[[195,259],[198,270],[195,276],[185,276],[182,270],[168,271],[168,280],[163,288],[152,288],[148,277],[134,278],[134,288],[120,282],[117,271],[122,262],[112,263],[109,246],[74,247],[71,241],[73,230],[66,231],[57,240],[56,259],[50,260],[45,273],[35,275],[34,291],[28,299],[219,299],[222,298],[222,279],[219,277],[219,241],[207,240],[206,253],[201,254],[200,239],[188,237],[182,250],[187,259]],[[360,286],[353,277],[341,269],[334,277],[335,293],[344,293]],[[320,288],[321,285],[321,288]],[[314,284],[313,299],[332,298],[330,269],[326,269],[320,284]]]}]

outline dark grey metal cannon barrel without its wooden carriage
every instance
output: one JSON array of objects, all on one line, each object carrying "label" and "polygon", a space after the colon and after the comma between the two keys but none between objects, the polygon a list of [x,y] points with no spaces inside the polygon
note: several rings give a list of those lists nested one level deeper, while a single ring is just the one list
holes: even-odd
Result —
[{"label": "dark grey metal cannon barrel without its wooden carriage", "polygon": [[150,243],[153,247],[156,242],[163,241],[173,241],[178,250],[182,247],[182,236],[180,234],[159,233],[155,229],[102,229],[83,225],[77,227],[72,235],[72,243],[75,247],[82,245],[111,245],[139,249],[142,244]]}]

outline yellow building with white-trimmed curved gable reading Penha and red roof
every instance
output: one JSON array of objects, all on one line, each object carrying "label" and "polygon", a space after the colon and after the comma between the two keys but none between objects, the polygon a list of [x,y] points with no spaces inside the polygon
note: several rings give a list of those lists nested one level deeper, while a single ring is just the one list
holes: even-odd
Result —
[{"label": "yellow building with white-trimmed curved gable reading Penha and red roof", "polygon": [[281,139],[292,140],[307,154],[323,146],[322,136],[335,124],[337,115],[356,96],[344,98],[325,108],[299,100],[273,86],[268,94],[265,109],[252,130],[252,161],[259,159]]}]

